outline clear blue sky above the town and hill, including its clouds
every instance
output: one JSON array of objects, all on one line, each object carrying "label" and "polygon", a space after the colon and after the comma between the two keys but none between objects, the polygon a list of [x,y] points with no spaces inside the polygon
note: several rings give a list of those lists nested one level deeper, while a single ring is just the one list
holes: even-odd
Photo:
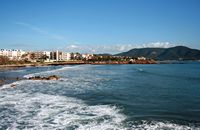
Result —
[{"label": "clear blue sky above the town and hill, including its clouds", "polygon": [[0,48],[200,49],[200,0],[0,0]]}]

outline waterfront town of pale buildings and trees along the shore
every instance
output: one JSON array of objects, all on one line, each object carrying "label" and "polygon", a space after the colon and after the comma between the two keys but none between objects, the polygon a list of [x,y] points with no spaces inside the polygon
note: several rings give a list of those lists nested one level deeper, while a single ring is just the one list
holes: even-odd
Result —
[{"label": "waterfront town of pale buildings and trees along the shore", "polygon": [[145,57],[115,56],[109,54],[81,54],[63,51],[23,51],[1,49],[0,64],[154,64]]}]

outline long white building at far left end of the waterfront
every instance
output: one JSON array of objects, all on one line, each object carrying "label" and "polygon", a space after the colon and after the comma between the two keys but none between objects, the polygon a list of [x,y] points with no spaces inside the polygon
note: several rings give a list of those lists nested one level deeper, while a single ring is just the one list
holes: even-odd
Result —
[{"label": "long white building at far left end of the waterfront", "polygon": [[20,60],[25,51],[15,49],[1,49],[0,56],[7,56],[10,60]]}]

